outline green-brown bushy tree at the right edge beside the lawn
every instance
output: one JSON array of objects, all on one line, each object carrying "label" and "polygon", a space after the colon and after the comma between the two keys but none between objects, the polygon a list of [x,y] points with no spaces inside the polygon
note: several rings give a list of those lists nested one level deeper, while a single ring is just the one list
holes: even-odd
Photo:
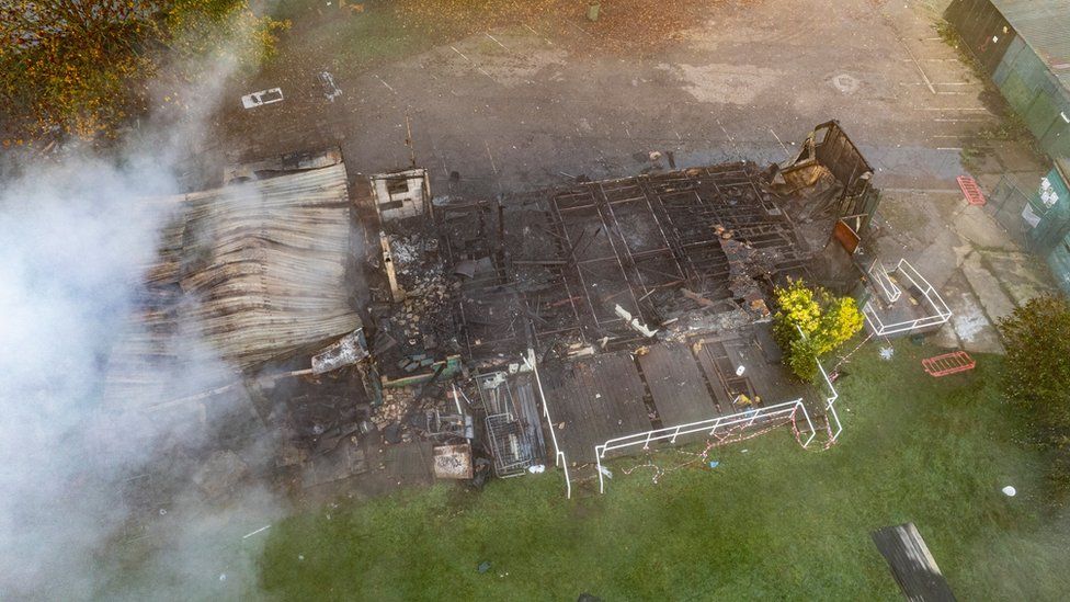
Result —
[{"label": "green-brown bushy tree at the right edge beside the lawn", "polygon": [[1062,296],[1029,300],[1000,320],[1006,359],[1003,393],[1029,424],[1031,439],[1051,453],[1049,476],[1070,491],[1070,304]]}]

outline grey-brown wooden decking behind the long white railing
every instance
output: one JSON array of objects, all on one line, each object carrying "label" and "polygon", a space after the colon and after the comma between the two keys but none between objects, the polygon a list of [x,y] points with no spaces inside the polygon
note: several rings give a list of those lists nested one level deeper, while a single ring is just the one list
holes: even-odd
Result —
[{"label": "grey-brown wooden decking behind the long white railing", "polygon": [[[569,462],[593,462],[594,446],[610,439],[799,398],[811,416],[821,414],[816,391],[788,377],[765,350],[767,328],[662,341],[636,355],[604,353],[553,371],[544,377],[545,393],[561,451]],[[743,373],[737,375],[740,366]],[[750,401],[741,402],[741,395]]]}]

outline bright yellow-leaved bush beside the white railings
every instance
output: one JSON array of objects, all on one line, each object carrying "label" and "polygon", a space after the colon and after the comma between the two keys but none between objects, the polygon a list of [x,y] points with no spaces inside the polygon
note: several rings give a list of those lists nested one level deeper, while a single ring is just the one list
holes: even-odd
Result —
[{"label": "bright yellow-leaved bush beside the white railings", "polygon": [[804,380],[818,373],[818,360],[835,351],[862,330],[858,305],[801,280],[775,289],[773,337],[784,350],[784,363]]}]

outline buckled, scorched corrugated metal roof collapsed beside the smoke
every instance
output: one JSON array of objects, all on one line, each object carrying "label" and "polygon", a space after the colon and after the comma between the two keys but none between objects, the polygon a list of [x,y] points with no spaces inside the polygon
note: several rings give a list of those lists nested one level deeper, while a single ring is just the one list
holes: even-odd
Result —
[{"label": "buckled, scorched corrugated metal roof collapsed beside the smoke", "polygon": [[344,164],[150,202],[175,218],[113,345],[105,406],[226,386],[236,368],[361,326],[345,286]]}]

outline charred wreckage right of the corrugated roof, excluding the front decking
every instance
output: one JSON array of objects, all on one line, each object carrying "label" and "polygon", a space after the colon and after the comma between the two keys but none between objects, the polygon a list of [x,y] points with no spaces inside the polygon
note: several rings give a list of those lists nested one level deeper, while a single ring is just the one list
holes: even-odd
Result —
[{"label": "charred wreckage right of the corrugated roof, excluding the front decking", "polygon": [[372,420],[421,438],[434,432],[424,414],[445,413],[471,434],[448,443],[470,445],[499,476],[539,470],[554,461],[544,410],[554,391],[542,386],[579,359],[769,322],[772,288],[787,279],[857,282],[842,248],[868,229],[872,173],[830,122],[769,168],[496,198],[435,196],[421,169],[374,175],[357,193]]}]

